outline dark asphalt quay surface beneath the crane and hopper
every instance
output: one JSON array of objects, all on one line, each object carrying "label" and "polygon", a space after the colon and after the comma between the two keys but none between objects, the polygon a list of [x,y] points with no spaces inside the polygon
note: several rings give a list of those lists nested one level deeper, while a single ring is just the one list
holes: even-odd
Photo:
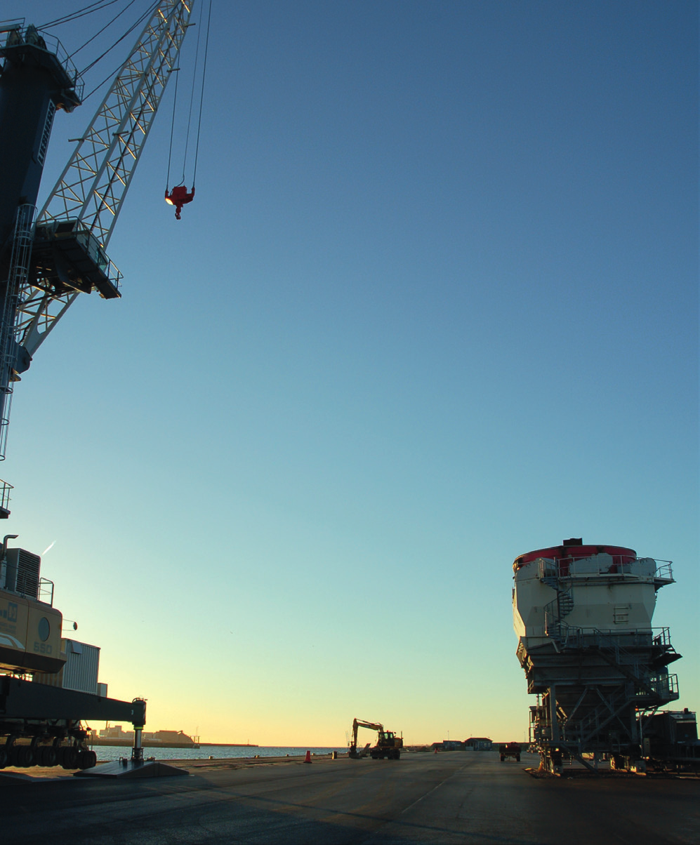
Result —
[{"label": "dark asphalt quay surface beneath the crane and hopper", "polygon": [[52,845],[700,843],[700,781],[532,777],[494,752],[215,760],[190,777],[0,776],[3,842]]}]

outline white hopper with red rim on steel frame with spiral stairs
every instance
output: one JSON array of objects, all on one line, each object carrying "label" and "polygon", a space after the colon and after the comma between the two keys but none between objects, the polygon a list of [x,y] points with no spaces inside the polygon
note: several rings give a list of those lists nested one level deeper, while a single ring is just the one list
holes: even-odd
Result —
[{"label": "white hopper with red rim on steel frame with spiral stairs", "polygon": [[561,546],[513,563],[517,658],[538,695],[530,742],[544,768],[608,755],[615,767],[643,766],[644,718],[678,698],[668,666],[679,657],[668,628],[653,628],[656,593],[674,581],[670,561],[632,548]]}]

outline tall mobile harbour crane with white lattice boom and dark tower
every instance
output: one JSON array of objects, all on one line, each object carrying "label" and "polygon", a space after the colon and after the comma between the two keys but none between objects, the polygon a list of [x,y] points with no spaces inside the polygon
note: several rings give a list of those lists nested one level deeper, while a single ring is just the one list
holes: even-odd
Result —
[{"label": "tall mobile harbour crane with white lattice boom and dark tower", "polygon": [[[46,336],[79,293],[121,296],[107,244],[191,11],[191,0],[151,9],[36,221],[53,117],[81,104],[83,83],[57,39],[24,21],[0,28],[0,458],[14,384]],[[0,482],[0,518],[9,515],[10,489]],[[88,720],[131,722],[139,768],[145,701],[107,698],[96,679],[99,650],[62,639],[63,616],[52,607],[41,558],[8,548],[15,538],[6,535],[0,549],[0,768],[94,766],[81,726]],[[80,657],[85,664],[88,654],[94,677],[71,684],[71,665]]]}]

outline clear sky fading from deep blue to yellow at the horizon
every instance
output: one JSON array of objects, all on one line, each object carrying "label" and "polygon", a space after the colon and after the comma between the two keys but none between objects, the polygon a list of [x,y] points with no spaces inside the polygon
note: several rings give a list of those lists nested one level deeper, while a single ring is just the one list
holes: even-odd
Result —
[{"label": "clear sky fading from deep blue to yellow at the horizon", "polygon": [[169,90],[123,299],[37,352],[2,467],[111,695],[205,741],[521,739],[512,560],[580,536],[673,560],[700,708],[697,4],[214,0],[207,75],[194,203]]}]

